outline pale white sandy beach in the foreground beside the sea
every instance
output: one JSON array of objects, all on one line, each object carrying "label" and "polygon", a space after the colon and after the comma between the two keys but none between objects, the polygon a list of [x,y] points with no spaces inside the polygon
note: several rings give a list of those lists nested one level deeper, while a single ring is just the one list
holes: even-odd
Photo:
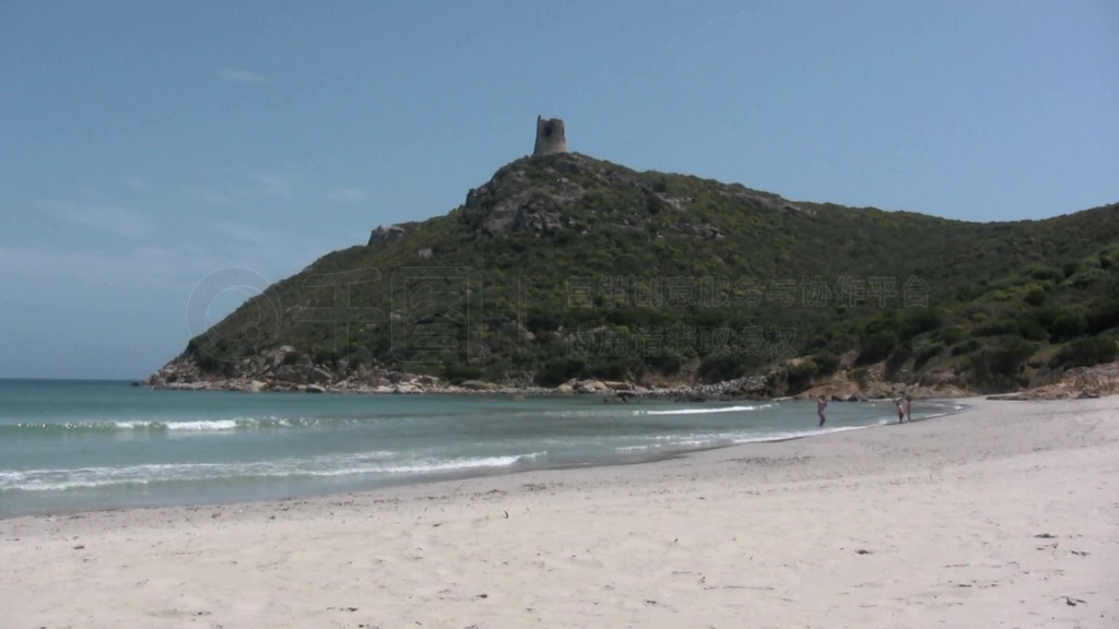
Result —
[{"label": "pale white sandy beach in the foreground beside the sea", "polygon": [[0,627],[1119,627],[1119,398],[969,403],[639,466],[0,520]]}]

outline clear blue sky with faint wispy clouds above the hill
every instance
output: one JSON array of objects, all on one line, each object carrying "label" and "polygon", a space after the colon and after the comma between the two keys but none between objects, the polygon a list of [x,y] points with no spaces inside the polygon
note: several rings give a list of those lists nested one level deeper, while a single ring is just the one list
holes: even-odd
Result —
[{"label": "clear blue sky with faint wispy clouds above the hill", "polygon": [[445,214],[537,114],[641,170],[1045,218],[1119,200],[1119,3],[0,2],[0,377],[144,377],[206,278],[244,270],[219,317]]}]

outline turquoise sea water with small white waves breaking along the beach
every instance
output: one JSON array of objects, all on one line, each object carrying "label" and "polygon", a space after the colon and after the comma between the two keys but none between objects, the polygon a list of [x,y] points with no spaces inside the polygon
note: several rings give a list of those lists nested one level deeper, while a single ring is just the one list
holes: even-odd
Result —
[{"label": "turquoise sea water with small white waves breaking along the beach", "polygon": [[[916,416],[950,412],[922,404]],[[0,381],[0,517],[612,464],[896,420],[888,403],[150,391]]]}]

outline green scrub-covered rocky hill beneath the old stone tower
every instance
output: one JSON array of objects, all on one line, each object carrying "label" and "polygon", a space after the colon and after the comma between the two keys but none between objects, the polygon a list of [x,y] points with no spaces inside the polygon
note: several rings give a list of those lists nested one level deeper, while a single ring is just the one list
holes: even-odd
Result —
[{"label": "green scrub-covered rocky hill beneath the old stone tower", "polygon": [[564,153],[514,161],[445,216],[325,255],[152,382],[396,370],[554,386],[784,365],[796,392],[844,364],[1000,391],[1113,360],[1117,328],[1119,205],[978,224]]}]

